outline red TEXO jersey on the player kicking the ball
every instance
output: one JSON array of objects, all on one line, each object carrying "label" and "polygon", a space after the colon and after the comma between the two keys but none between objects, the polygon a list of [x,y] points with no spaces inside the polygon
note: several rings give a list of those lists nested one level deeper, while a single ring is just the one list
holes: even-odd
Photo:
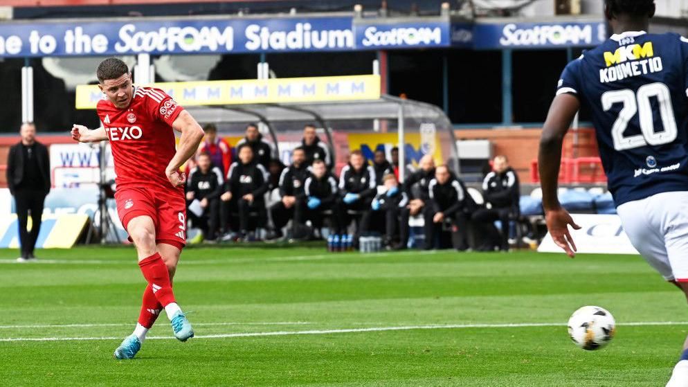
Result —
[{"label": "red TEXO jersey on the player kicking the ball", "polygon": [[165,91],[152,87],[134,87],[127,109],[118,109],[109,100],[98,101],[98,117],[110,141],[118,190],[145,186],[175,189],[165,168],[176,152],[172,123],[183,109]]}]

